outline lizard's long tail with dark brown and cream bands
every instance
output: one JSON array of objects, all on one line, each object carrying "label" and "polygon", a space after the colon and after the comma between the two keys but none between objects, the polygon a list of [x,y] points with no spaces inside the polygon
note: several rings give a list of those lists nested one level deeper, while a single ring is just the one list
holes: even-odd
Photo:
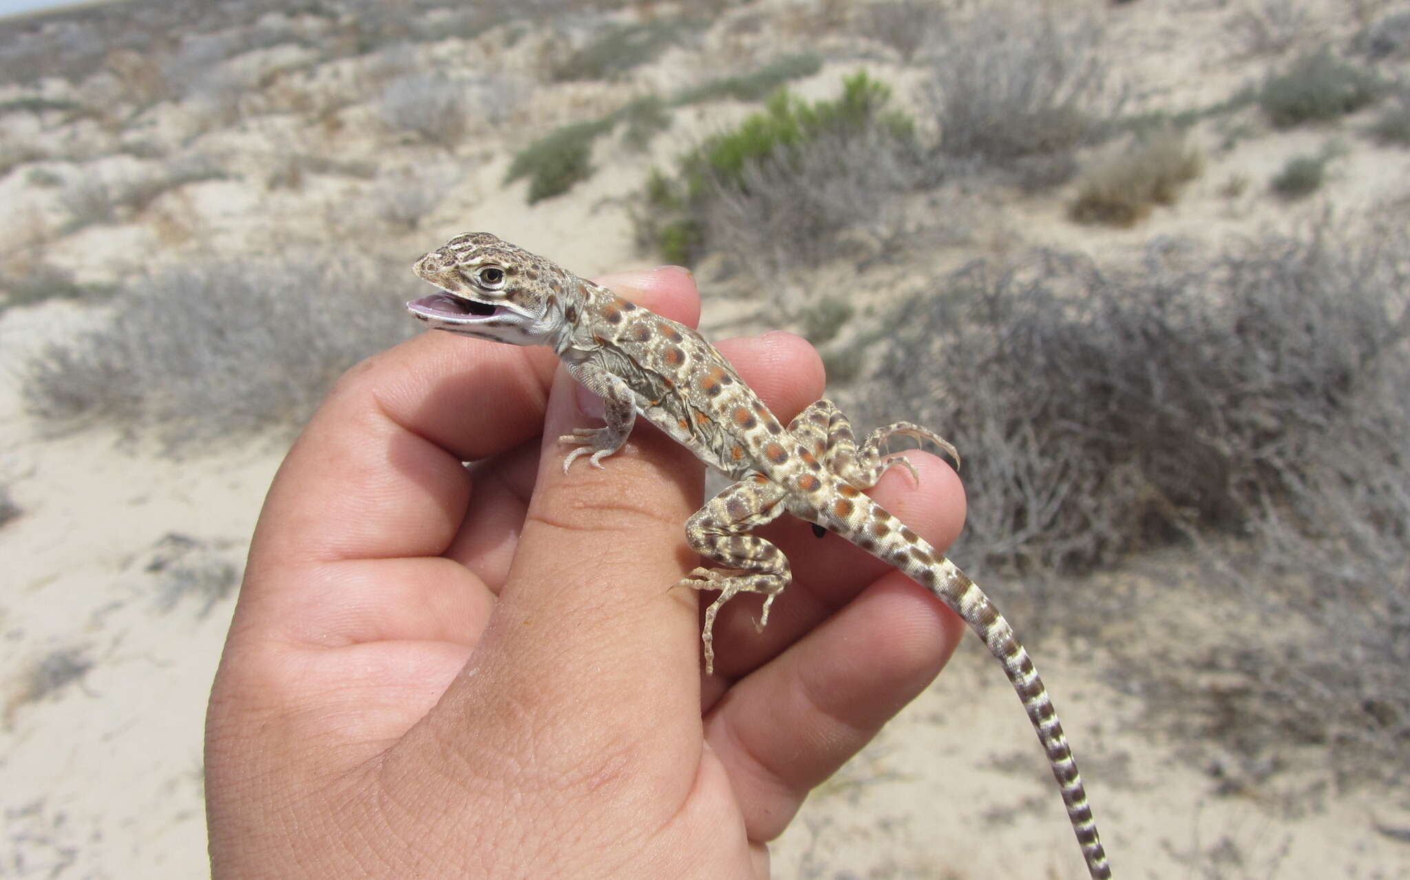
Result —
[{"label": "lizard's long tail with dark brown and cream bands", "polygon": [[[1048,763],[1052,766],[1053,777],[1062,790],[1063,804],[1067,807],[1067,818],[1072,829],[1081,845],[1083,859],[1087,862],[1087,873],[1093,880],[1110,880],[1111,867],[1107,865],[1107,850],[1101,846],[1097,835],[1097,822],[1091,818],[1091,805],[1087,803],[1087,790],[1081,784],[1081,774],[1077,772],[1077,762],[1073,760],[1072,748],[1063,735],[1062,722],[1058,721],[1058,710],[1043,687],[1043,680],[1034,669],[1034,660],[1028,650],[1018,642],[1014,628],[1008,625],[1004,615],[998,612],[994,603],[984,596],[984,591],[959,570],[953,562],[946,559],[924,538],[901,525],[895,517],[888,514],[874,501],[870,517],[873,521],[869,541],[859,542],[859,546],[873,556],[883,559],[921,586],[933,593],[940,601],[949,605],[956,614],[964,618],[974,632],[984,639],[990,653],[1004,665],[1004,674],[1008,676],[1028,719],[1038,732],[1038,742],[1048,753]],[[878,529],[876,522],[893,524]]]}]

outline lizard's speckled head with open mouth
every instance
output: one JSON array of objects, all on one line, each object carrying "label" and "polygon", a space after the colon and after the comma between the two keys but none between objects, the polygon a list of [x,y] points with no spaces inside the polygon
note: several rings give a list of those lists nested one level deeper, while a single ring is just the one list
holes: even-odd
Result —
[{"label": "lizard's speckled head with open mouth", "polygon": [[551,345],[563,327],[563,269],[489,232],[465,232],[426,253],[416,275],[440,293],[407,311],[436,329],[510,342]]}]

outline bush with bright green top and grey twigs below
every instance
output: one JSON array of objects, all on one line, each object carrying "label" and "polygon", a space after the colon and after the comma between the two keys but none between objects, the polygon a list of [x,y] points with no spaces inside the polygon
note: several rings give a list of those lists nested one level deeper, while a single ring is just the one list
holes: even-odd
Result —
[{"label": "bush with bright green top and grey twigs below", "polygon": [[866,73],[836,100],[780,90],[682,156],[674,177],[653,176],[640,239],[681,263],[726,248],[766,275],[823,258],[842,230],[876,224],[926,173],[911,120],[888,101]]}]

